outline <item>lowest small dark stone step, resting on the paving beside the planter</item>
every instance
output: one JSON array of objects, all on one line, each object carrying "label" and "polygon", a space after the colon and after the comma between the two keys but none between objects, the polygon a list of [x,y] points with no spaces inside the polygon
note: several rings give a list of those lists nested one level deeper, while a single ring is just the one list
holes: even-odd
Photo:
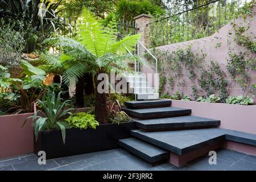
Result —
[{"label": "lowest small dark stone step, resting on the paving beside the planter", "polygon": [[170,152],[167,150],[137,138],[118,140],[118,144],[149,163],[158,163],[168,159],[170,156]]}]

